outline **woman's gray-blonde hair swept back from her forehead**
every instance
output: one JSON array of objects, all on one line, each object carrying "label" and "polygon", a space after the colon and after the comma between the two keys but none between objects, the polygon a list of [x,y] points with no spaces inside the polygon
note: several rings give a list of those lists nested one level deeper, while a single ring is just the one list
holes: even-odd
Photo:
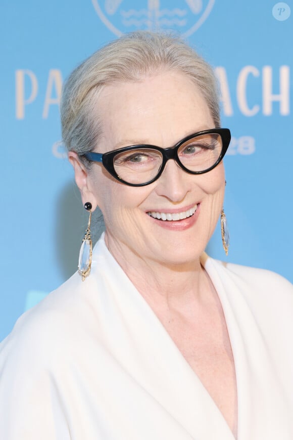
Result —
[{"label": "woman's gray-blonde hair swept back from her forehead", "polygon": [[140,81],[162,69],[187,75],[205,99],[215,126],[220,126],[217,82],[212,67],[181,38],[138,31],[123,35],[78,66],[63,87],[62,137],[68,150],[92,151],[102,133],[93,107],[103,87],[122,81]]}]

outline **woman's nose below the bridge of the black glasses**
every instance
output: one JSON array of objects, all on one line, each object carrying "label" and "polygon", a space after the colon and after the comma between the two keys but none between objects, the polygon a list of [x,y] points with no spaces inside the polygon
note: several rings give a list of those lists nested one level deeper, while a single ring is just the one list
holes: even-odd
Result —
[{"label": "woman's nose below the bridge of the black glasses", "polygon": [[172,202],[180,202],[186,194],[191,191],[191,178],[181,169],[175,160],[168,160],[165,169],[157,180],[156,193],[159,196],[167,197]]}]

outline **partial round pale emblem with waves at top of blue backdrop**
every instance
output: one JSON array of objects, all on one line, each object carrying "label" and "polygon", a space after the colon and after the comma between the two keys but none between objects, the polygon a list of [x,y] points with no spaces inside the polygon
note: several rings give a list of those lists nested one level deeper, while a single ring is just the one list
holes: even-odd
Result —
[{"label": "partial round pale emblem with waves at top of blue backdrop", "polygon": [[91,0],[117,36],[134,30],[177,30],[191,35],[210,15],[215,0]]}]

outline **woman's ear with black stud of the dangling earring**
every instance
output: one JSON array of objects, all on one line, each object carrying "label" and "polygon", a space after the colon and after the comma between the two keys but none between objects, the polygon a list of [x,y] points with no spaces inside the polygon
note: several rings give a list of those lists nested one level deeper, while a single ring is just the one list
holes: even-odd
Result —
[{"label": "woman's ear with black stud of the dangling earring", "polygon": [[80,161],[79,156],[77,153],[75,153],[75,151],[68,152],[68,160],[73,166],[75,182],[79,188],[83,205],[86,202],[90,202],[92,205],[92,211],[94,211],[97,207],[97,203],[92,191],[90,190],[88,170]]}]

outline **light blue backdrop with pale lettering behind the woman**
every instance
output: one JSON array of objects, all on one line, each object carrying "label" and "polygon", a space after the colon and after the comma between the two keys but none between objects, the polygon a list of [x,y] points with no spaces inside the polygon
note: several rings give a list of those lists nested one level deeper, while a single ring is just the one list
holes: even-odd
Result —
[{"label": "light blue backdrop with pale lettering behind the woman", "polygon": [[[293,281],[291,2],[6,0],[0,8],[0,340],[76,270],[87,216],[60,142],[62,82],[135,29],[175,29],[215,67],[222,125],[233,137],[225,159],[227,259]],[[96,236],[101,228],[97,219]],[[219,227],[208,252],[226,258]]]}]

